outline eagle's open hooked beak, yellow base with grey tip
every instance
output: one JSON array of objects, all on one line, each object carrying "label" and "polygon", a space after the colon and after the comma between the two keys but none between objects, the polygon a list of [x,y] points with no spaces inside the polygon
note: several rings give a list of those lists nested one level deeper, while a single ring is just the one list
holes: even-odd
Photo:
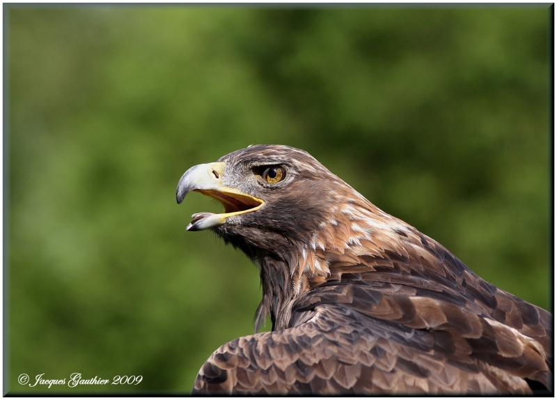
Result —
[{"label": "eagle's open hooked beak, yellow base with grey tip", "polygon": [[250,194],[240,192],[234,187],[222,184],[222,176],[226,163],[212,162],[199,164],[188,169],[176,187],[176,201],[181,204],[189,192],[201,192],[205,196],[217,199],[224,206],[223,214],[197,213],[191,215],[188,231],[203,231],[203,229],[219,226],[233,215],[251,213],[259,210],[265,201]]}]

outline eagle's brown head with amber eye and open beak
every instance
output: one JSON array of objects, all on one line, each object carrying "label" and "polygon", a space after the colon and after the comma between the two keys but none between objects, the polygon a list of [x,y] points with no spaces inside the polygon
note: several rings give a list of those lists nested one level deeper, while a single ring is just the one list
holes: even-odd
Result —
[{"label": "eagle's brown head with amber eye and open beak", "polygon": [[338,223],[332,215],[340,203],[363,199],[306,151],[278,145],[191,167],[178,183],[178,203],[192,191],[219,200],[224,213],[196,213],[187,230],[212,229],[251,259],[313,249],[324,226]]}]

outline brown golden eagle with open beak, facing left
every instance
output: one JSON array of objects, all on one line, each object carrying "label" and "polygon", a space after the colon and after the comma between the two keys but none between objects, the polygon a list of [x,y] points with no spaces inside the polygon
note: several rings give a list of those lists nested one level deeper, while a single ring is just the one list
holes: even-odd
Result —
[{"label": "brown golden eagle with open beak, facing left", "polygon": [[553,390],[552,316],[485,282],[315,158],[249,146],[188,169],[224,213],[192,216],[259,268],[272,332],[224,344],[194,394],[532,394]]}]

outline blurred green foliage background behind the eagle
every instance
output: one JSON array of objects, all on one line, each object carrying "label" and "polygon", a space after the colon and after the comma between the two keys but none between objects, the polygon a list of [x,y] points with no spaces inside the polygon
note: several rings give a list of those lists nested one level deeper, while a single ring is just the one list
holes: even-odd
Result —
[{"label": "blurred green foliage background behind the eagle", "polygon": [[[175,203],[249,144],[304,148],[550,307],[549,4],[3,7],[10,394],[186,394],[253,332],[256,268],[185,230],[221,206]],[[74,372],[143,381],[17,383]]]}]

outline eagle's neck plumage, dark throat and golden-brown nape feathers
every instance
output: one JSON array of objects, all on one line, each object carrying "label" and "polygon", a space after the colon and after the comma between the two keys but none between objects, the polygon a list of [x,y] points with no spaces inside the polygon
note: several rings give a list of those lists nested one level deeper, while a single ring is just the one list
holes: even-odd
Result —
[{"label": "eagle's neck plumage, dark throat and golden-brown nape feathers", "polygon": [[[318,228],[296,242],[276,232],[254,232],[253,227],[236,226],[230,236],[219,231],[259,267],[263,295],[256,311],[256,332],[267,315],[273,330],[286,328],[297,298],[329,279],[339,279],[343,268],[359,263],[359,256],[382,256],[386,251],[408,256],[424,250],[419,239],[423,235],[416,235],[416,229],[355,193],[323,213]],[[273,247],[263,248],[262,243]]]}]

